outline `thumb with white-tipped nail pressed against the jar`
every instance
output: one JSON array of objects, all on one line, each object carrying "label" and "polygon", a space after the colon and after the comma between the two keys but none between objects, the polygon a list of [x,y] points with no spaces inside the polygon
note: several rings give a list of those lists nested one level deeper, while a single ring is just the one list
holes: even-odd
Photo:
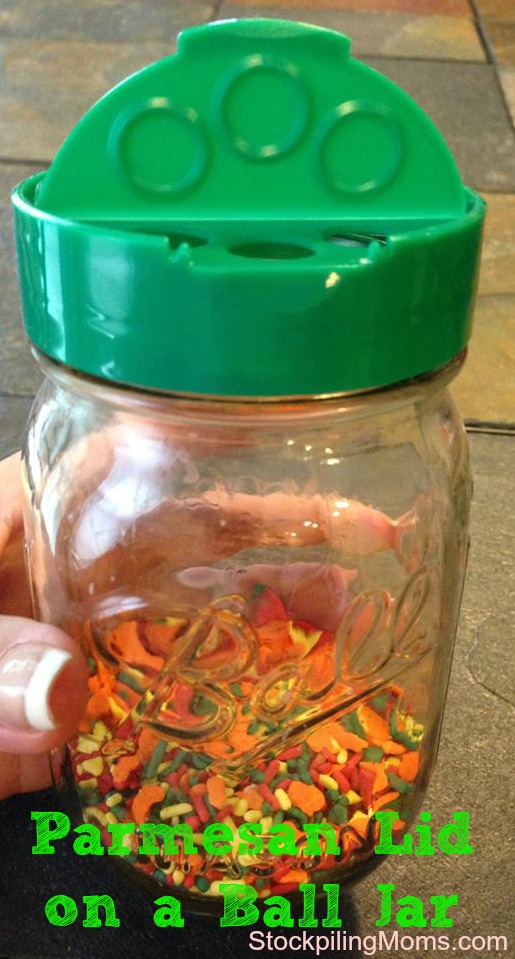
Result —
[{"label": "thumb with white-tipped nail pressed against the jar", "polygon": [[0,751],[46,752],[69,739],[87,675],[78,644],[61,629],[0,616]]}]

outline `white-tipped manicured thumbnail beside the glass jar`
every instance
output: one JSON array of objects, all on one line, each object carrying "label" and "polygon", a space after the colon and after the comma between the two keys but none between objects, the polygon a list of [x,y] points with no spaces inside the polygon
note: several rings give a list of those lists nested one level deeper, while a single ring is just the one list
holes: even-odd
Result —
[{"label": "white-tipped manicured thumbnail beside the glass jar", "polygon": [[0,723],[45,732],[57,728],[52,692],[72,659],[44,643],[20,643],[0,656]]}]

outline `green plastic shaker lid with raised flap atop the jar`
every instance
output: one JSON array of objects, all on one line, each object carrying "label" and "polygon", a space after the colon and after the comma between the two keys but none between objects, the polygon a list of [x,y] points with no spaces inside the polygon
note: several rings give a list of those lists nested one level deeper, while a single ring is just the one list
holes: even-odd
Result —
[{"label": "green plastic shaker lid with raised flap atop the jar", "polygon": [[13,202],[30,339],[106,380],[338,393],[436,369],[469,337],[484,203],[330,30],[185,31]]}]

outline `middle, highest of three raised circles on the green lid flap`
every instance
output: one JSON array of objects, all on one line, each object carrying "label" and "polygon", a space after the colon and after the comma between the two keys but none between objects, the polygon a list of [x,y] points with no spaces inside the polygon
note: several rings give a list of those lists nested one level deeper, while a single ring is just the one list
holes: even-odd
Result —
[{"label": "middle, highest of three raised circles on the green lid flap", "polygon": [[307,92],[297,67],[260,54],[222,78],[219,122],[244,156],[271,160],[294,147],[306,131]]}]

